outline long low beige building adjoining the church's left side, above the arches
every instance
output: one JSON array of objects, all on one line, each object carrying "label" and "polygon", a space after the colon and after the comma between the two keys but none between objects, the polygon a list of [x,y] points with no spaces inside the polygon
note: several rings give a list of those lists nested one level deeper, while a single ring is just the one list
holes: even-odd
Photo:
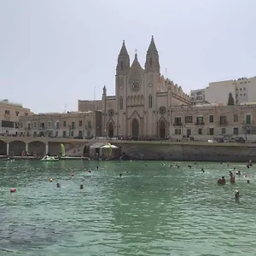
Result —
[{"label": "long low beige building adjoining the church's left side, above the arches", "polygon": [[20,117],[20,136],[100,137],[102,112],[38,113]]}]

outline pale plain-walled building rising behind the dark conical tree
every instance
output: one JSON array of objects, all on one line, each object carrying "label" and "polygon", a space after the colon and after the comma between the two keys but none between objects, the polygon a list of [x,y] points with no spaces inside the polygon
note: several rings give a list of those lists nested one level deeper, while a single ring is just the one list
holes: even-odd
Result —
[{"label": "pale plain-walled building rising behind the dark conical tree", "polygon": [[226,105],[230,93],[236,105],[256,102],[256,77],[210,83],[204,92],[205,100],[209,103]]}]

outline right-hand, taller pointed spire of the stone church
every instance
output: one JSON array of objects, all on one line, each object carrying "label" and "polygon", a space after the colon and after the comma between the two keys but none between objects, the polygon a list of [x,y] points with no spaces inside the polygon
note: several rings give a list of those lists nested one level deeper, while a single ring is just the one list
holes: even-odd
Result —
[{"label": "right-hand, taller pointed spire of the stone church", "polygon": [[152,36],[151,42],[148,46],[145,63],[146,73],[160,73],[159,55],[154,44],[154,37]]}]

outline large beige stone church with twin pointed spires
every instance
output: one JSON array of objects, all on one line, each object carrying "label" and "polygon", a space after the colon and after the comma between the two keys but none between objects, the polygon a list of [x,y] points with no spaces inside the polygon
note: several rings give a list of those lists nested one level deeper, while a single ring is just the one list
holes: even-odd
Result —
[{"label": "large beige stone church with twin pointed spires", "polygon": [[102,111],[102,135],[146,140],[169,137],[172,107],[190,101],[181,86],[160,73],[159,53],[152,37],[144,68],[137,53],[131,63],[123,41],[116,66],[115,96],[108,96],[104,86],[102,101],[79,101],[79,111],[88,110],[91,103]]}]

